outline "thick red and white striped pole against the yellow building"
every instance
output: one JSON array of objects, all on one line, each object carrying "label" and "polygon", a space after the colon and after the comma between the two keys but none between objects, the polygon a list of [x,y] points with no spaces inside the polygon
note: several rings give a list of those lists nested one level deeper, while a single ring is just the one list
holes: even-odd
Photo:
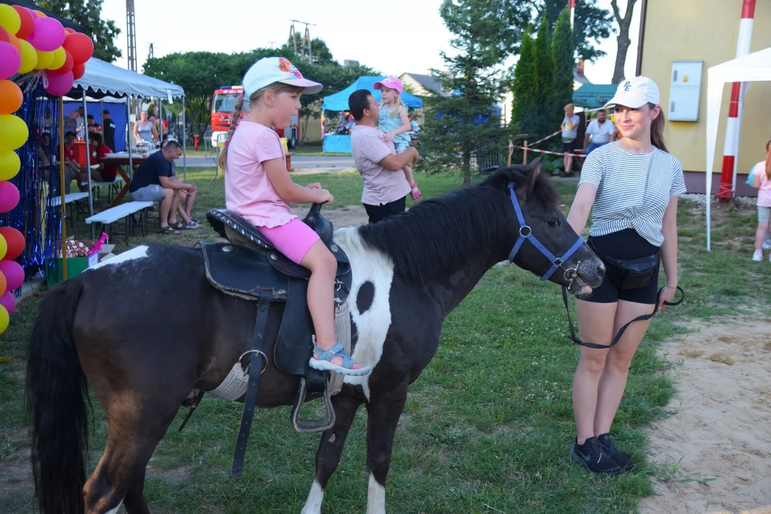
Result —
[{"label": "thick red and white striped pole against the yellow building", "polygon": [[[739,39],[736,42],[736,58],[749,53],[752,42],[752,20],[755,17],[755,0],[742,2],[742,18],[739,21]],[[731,103],[726,123],[726,143],[723,146],[722,172],[720,173],[720,190],[717,197],[720,203],[728,203],[736,190],[736,155],[739,153],[739,134],[742,130],[742,105],[747,91],[746,84],[733,82],[731,86]],[[708,170],[709,172],[709,170]]]}]

